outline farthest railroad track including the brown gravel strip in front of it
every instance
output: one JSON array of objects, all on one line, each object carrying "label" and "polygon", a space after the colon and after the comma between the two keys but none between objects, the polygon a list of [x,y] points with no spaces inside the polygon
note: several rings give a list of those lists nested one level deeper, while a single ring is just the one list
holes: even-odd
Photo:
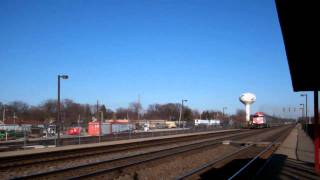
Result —
[{"label": "farthest railroad track including the brown gravel strip in front of it", "polygon": [[[5,179],[20,177],[22,175],[44,172],[52,169],[60,169],[70,164],[92,163],[91,159],[105,156],[112,156],[114,153],[127,154],[134,150],[143,150],[150,147],[162,147],[181,142],[191,142],[199,139],[215,138],[223,135],[246,133],[247,130],[236,130],[228,132],[215,132],[211,134],[196,134],[182,137],[162,137],[153,140],[133,140],[134,142],[114,145],[97,145],[93,147],[83,147],[64,151],[43,152],[23,156],[13,156],[0,158],[0,172],[5,174]],[[138,142],[135,142],[138,141]],[[86,162],[88,160],[89,162]],[[79,162],[80,161],[80,162]],[[71,162],[71,163],[70,163]],[[28,173],[26,173],[28,172]]]}]

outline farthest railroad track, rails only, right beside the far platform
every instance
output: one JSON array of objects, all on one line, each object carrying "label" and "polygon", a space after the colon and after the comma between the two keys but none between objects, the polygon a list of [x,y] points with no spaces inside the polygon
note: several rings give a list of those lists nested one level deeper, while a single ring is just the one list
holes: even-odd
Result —
[{"label": "farthest railroad track, rails only, right beside the far platform", "polygon": [[0,161],[3,162],[0,164],[0,170],[7,168],[21,168],[23,166],[32,166],[39,163],[54,163],[58,161],[68,161],[76,158],[90,157],[94,155],[101,154],[111,154],[115,152],[126,152],[131,150],[143,149],[151,146],[161,146],[166,144],[174,144],[178,142],[188,142],[194,141],[202,138],[212,138],[222,135],[236,134],[236,133],[245,133],[246,130],[238,131],[222,131],[211,134],[197,134],[190,136],[182,136],[175,138],[159,138],[146,141],[130,142],[125,144],[114,144],[114,145],[99,145],[92,147],[83,147],[77,149],[68,149],[62,151],[52,151],[52,152],[43,152],[37,154],[28,154],[14,157],[3,157],[0,158]]}]

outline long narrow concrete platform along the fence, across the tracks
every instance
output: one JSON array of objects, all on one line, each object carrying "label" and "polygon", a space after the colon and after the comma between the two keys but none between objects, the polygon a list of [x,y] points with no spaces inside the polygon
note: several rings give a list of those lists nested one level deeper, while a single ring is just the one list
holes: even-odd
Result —
[{"label": "long narrow concrete platform along the fence, across the tracks", "polygon": [[50,147],[50,148],[38,148],[38,149],[30,149],[30,150],[8,151],[8,152],[0,152],[0,158],[24,156],[24,155],[31,155],[31,154],[42,154],[42,153],[49,153],[49,152],[56,152],[56,151],[68,151],[68,150],[72,150],[72,149],[95,148],[95,147],[101,147],[101,146],[112,146],[112,145],[119,145],[119,144],[144,142],[144,141],[150,141],[150,140],[170,139],[170,138],[176,138],[176,137],[186,137],[186,136],[193,136],[193,135],[214,134],[214,133],[232,132],[232,131],[239,131],[239,129],[215,130],[215,131],[206,131],[206,132],[197,132],[197,133],[185,133],[185,134],[156,136],[156,137],[139,138],[139,139],[101,142],[101,143],[94,143],[94,144],[81,144],[81,145],[69,145],[69,146],[62,146],[62,147]]}]

